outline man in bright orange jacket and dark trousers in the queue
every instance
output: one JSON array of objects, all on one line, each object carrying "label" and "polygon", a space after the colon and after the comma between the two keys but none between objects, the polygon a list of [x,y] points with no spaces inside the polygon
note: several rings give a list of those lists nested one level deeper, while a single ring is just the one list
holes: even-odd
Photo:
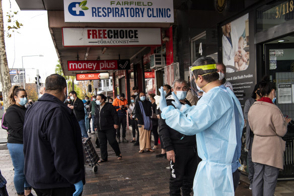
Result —
[{"label": "man in bright orange jacket and dark trousers in the queue", "polygon": [[126,110],[128,109],[127,100],[124,98],[124,94],[118,95],[112,105],[117,111],[118,115],[118,128],[116,129],[117,142],[120,143],[120,126],[122,126],[122,142],[128,142],[125,139],[126,132]]}]

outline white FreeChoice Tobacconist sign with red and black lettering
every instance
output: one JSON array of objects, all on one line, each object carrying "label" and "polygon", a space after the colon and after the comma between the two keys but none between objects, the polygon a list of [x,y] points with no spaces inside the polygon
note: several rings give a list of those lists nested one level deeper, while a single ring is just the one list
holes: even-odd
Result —
[{"label": "white FreeChoice Tobacconist sign with red and black lettering", "polygon": [[161,45],[160,28],[62,28],[64,47]]}]

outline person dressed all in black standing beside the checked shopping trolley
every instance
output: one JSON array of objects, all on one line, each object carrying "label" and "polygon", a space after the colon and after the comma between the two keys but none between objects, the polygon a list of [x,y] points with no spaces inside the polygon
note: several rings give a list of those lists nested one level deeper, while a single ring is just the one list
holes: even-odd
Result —
[{"label": "person dressed all in black standing beside the checked shopping trolley", "polygon": [[114,106],[106,102],[107,97],[103,94],[97,95],[95,108],[95,131],[98,133],[100,142],[101,160],[106,162],[108,160],[107,141],[114,150],[117,160],[121,160],[122,156],[119,150],[117,141],[115,140],[116,129],[118,128],[118,116]]}]

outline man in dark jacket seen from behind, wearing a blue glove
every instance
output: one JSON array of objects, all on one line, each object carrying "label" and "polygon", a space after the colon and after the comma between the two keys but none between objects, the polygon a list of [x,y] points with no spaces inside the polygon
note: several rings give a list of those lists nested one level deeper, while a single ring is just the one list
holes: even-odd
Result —
[{"label": "man in dark jacket seen from behind, wearing a blue glove", "polygon": [[66,90],[62,76],[50,75],[45,94],[26,112],[24,173],[38,195],[82,195],[85,184],[81,129],[63,103]]}]

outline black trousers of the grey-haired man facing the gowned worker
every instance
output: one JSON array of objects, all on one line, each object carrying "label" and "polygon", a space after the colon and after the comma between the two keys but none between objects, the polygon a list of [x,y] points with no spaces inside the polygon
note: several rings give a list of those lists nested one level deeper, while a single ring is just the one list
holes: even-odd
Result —
[{"label": "black trousers of the grey-haired man facing the gowned worker", "polygon": [[170,195],[190,196],[200,158],[196,147],[175,147],[176,162],[171,161]]}]

